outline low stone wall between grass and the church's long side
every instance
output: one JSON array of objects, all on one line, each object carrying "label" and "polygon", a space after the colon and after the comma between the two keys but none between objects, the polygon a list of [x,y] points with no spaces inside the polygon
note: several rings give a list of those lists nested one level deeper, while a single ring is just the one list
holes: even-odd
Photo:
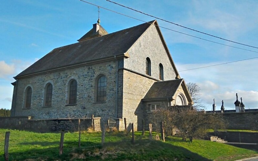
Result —
[{"label": "low stone wall between grass and the church's long side", "polygon": [[84,118],[62,118],[33,120],[30,116],[0,117],[0,128],[28,130],[35,132],[53,132],[53,131],[78,131],[87,130],[101,131],[100,117],[93,119]]}]

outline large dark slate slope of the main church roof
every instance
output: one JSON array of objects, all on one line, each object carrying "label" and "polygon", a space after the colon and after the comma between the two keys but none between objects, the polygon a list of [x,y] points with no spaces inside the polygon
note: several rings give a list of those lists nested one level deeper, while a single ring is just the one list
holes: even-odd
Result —
[{"label": "large dark slate slope of the main church roof", "polygon": [[[16,76],[38,73],[60,67],[122,55],[154,23],[150,21],[108,35],[53,49],[50,53]],[[151,23],[151,24],[150,24]]]}]

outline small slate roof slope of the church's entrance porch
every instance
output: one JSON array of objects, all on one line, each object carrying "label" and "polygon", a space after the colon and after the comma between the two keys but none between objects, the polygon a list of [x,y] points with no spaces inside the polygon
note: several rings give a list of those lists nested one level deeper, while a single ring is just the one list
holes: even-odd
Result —
[{"label": "small slate roof slope of the church's entrance porch", "polygon": [[160,81],[152,84],[151,88],[144,96],[144,99],[160,99],[160,98],[172,98],[178,87],[181,85],[183,79],[174,79],[168,81]]}]

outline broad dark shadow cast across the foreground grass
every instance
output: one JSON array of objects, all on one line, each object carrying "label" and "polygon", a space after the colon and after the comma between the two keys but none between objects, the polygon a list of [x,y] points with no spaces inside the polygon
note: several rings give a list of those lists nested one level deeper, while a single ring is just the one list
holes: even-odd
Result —
[{"label": "broad dark shadow cast across the foreground grass", "polygon": [[[28,145],[27,143],[24,143]],[[63,154],[59,156],[59,142],[31,142],[33,145],[56,145],[42,149],[32,148],[9,153],[10,160],[210,160],[185,148],[169,143],[140,139],[107,141],[104,146],[95,142],[64,142]],[[2,157],[2,156],[1,156]],[[3,160],[3,157],[0,158]]]}]

